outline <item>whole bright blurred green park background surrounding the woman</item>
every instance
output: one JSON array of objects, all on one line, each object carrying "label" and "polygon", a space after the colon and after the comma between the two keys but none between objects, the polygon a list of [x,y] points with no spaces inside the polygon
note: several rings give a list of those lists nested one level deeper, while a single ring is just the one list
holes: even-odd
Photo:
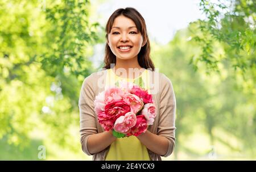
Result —
[{"label": "whole bright blurred green park background surrounding the woman", "polygon": [[246,0],[2,0],[0,160],[92,159],[79,94],[121,7],[141,12],[155,67],[174,85],[176,147],[163,160],[256,160],[256,10]]}]

